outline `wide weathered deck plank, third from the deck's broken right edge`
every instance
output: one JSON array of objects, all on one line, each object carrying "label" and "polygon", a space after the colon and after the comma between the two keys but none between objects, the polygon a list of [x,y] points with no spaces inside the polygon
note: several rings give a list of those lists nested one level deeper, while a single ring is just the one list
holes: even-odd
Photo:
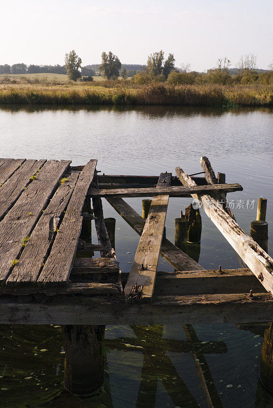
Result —
[{"label": "wide weathered deck plank, third from the deck's broken right edge", "polygon": [[28,240],[69,163],[65,160],[46,162],[0,222],[0,282],[8,277],[16,264],[24,242]]}]

